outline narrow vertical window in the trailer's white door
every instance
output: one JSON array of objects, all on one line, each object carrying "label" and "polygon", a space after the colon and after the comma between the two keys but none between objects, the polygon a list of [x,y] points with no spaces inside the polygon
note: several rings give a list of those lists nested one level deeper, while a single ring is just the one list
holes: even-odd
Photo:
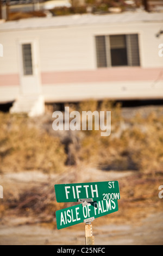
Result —
[{"label": "narrow vertical window in the trailer's white door", "polygon": [[23,44],[22,45],[22,56],[23,56],[23,73],[24,73],[24,75],[33,75],[31,44]]}]

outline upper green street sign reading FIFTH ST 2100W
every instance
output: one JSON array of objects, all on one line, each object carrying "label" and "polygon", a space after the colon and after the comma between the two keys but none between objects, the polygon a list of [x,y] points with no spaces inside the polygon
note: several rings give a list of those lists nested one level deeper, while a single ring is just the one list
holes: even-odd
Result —
[{"label": "upper green street sign reading FIFTH ST 2100W", "polygon": [[80,202],[80,199],[117,200],[120,199],[118,181],[57,184],[55,195],[58,203]]}]

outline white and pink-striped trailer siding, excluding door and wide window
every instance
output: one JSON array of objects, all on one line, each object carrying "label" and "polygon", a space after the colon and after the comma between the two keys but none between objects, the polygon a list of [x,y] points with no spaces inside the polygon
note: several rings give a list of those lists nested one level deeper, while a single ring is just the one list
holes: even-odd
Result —
[{"label": "white and pink-striped trailer siding, excluding door and wide window", "polygon": [[[74,15],[0,25],[0,101],[21,92],[21,41],[37,41],[41,93],[48,101],[163,97],[160,14]],[[138,34],[140,66],[97,68],[97,35]],[[27,84],[28,86],[28,84]]]}]

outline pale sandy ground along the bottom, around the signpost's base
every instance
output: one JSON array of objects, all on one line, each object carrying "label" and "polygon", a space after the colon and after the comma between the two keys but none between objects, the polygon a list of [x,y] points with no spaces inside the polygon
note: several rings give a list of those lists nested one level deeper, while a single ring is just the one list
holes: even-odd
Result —
[{"label": "pale sandy ground along the bottom, around the signpost's base", "polygon": [[[163,214],[145,218],[141,225],[93,225],[95,245],[162,245]],[[0,245],[85,245],[85,224],[78,228],[49,229],[39,225],[1,225]]]}]

